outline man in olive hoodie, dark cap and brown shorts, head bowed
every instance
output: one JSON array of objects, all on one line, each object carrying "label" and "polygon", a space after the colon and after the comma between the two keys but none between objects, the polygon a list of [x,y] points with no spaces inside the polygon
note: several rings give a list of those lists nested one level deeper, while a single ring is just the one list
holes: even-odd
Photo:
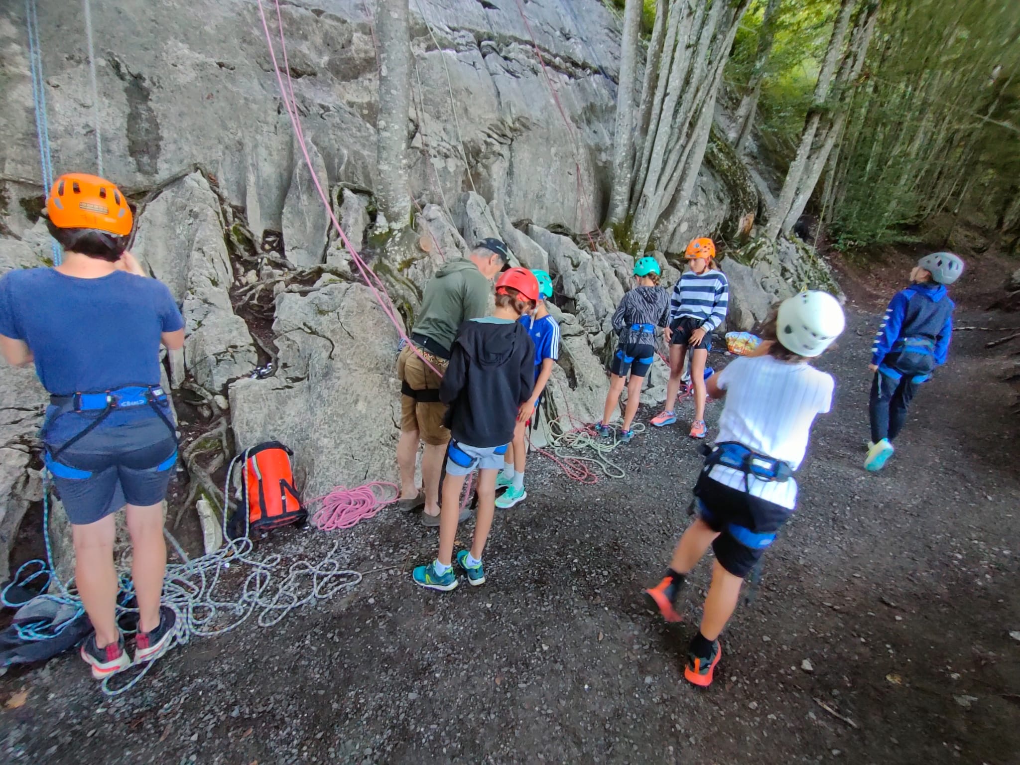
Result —
[{"label": "man in olive hoodie, dark cap and brown shorts, head bowed", "polygon": [[[402,384],[400,442],[400,507],[415,510],[424,504],[421,520],[439,525],[440,475],[450,430],[443,424],[446,404],[439,398],[442,377],[450,359],[450,348],[460,325],[489,313],[492,279],[510,259],[507,246],[498,239],[479,242],[466,258],[446,263],[425,285],[421,310],[411,330],[415,348],[405,348],[397,360],[397,376]],[[419,355],[420,354],[420,355]],[[421,359],[423,356],[428,364]],[[418,443],[424,442],[419,490],[414,482],[414,462]]]}]

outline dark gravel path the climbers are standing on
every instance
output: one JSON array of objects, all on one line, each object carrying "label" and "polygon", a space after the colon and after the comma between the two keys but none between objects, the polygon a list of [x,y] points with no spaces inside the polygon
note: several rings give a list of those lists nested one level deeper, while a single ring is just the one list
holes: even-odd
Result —
[{"label": "dark gravel path the climbers are standing on", "polygon": [[[113,702],[73,656],[9,674],[0,706],[29,696],[0,711],[0,759],[1016,762],[1020,468],[1018,423],[1003,414],[1013,392],[986,334],[960,334],[895,459],[865,473],[874,321],[852,316],[820,364],[837,375],[836,410],[816,428],[801,508],[757,603],[723,636],[710,691],[681,680],[708,564],[677,628],[638,597],[686,522],[699,463],[677,426],[621,450],[622,481],[577,487],[537,465],[532,499],[497,520],[480,590],[442,596],[404,572],[368,576],[273,628],[197,641]],[[435,550],[435,534],[396,511],[345,534],[355,568],[407,569]],[[313,557],[332,543],[287,537],[274,545]]]}]

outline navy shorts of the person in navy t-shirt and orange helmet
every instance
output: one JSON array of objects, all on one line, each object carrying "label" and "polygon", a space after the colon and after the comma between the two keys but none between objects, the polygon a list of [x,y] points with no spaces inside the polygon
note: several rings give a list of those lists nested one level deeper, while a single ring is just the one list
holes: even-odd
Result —
[{"label": "navy shorts of the person in navy t-shirt and orange helmet", "polygon": [[[68,413],[64,417],[82,417]],[[46,440],[55,454],[66,440]],[[158,505],[176,465],[177,442],[155,413],[123,424],[99,425],[47,460],[57,496],[74,525],[95,523],[125,504]]]}]

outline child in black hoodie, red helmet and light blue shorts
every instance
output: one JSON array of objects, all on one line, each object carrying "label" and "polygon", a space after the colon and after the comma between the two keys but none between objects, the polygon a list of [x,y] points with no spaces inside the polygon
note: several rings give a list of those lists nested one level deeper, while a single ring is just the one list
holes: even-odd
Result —
[{"label": "child in black hoodie, red helmet and light blue shorts", "polygon": [[496,512],[496,475],[513,439],[520,406],[534,387],[534,344],[518,319],[534,310],[538,301],[534,274],[511,268],[496,283],[493,315],[465,321],[457,330],[440,386],[440,399],[450,406],[446,425],[452,436],[440,509],[440,551],[435,561],[411,572],[420,586],[443,592],[457,586],[452,558],[458,505],[464,479],[475,469],[479,475],[474,539],[470,550],[457,553],[457,563],[468,582],[475,586],[486,582],[481,552]]}]

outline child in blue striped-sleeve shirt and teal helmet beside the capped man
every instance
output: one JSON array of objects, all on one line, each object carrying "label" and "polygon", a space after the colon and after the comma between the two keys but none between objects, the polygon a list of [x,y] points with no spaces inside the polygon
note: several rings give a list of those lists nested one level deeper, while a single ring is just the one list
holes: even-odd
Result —
[{"label": "child in blue striped-sleeve shirt and teal helmet beside the capped man", "polygon": [[560,358],[560,325],[546,308],[546,301],[553,297],[553,280],[542,269],[532,269],[531,273],[539,279],[539,302],[534,313],[524,314],[520,317],[520,322],[527,328],[527,334],[534,343],[534,391],[531,398],[520,406],[513,442],[507,449],[503,470],[496,479],[496,491],[506,490],[496,500],[496,507],[503,509],[513,507],[527,497],[527,492],[524,491],[524,465],[527,460],[524,442],[527,427],[539,410],[542,394],[553,375],[553,366]]}]

